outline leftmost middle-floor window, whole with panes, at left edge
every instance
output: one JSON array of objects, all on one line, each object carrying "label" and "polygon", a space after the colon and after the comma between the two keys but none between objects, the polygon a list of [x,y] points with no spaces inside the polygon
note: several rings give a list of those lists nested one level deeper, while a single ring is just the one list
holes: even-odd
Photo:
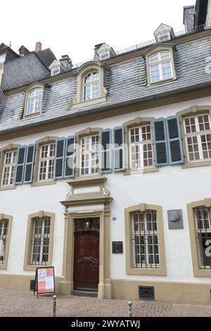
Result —
[{"label": "leftmost middle-floor window, whole with panes, at left edge", "polygon": [[17,151],[7,151],[4,154],[4,166],[2,175],[2,186],[13,185],[15,182],[15,167],[17,161]]}]

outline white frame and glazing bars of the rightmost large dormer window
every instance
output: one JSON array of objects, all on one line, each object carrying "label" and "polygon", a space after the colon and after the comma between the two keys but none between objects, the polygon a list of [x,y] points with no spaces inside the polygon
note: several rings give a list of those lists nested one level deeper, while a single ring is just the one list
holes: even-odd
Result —
[{"label": "white frame and glazing bars of the rightmost large dormer window", "polygon": [[[162,60],[161,59],[161,54],[162,53],[168,53],[169,54],[169,58],[165,58],[164,60]],[[151,57],[155,56],[156,54],[158,54],[158,61],[151,63]],[[163,75],[162,75],[162,64],[164,64],[164,63],[170,63],[171,74],[172,74],[171,77],[163,78]],[[159,67],[159,76],[160,76],[160,79],[159,80],[152,81],[151,67],[153,67],[155,65]],[[149,74],[150,74],[151,84],[156,84],[158,82],[161,82],[162,80],[172,80],[172,78],[174,78],[174,71],[173,71],[172,56],[171,56],[170,50],[157,51],[157,52],[151,54],[148,57],[148,68],[149,68]]]}]

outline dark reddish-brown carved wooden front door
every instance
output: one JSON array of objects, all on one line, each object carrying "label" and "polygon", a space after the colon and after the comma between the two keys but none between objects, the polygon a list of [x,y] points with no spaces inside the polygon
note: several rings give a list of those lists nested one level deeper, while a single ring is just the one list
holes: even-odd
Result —
[{"label": "dark reddish-brown carved wooden front door", "polygon": [[99,282],[98,233],[75,232],[74,287],[81,290],[97,290]]}]

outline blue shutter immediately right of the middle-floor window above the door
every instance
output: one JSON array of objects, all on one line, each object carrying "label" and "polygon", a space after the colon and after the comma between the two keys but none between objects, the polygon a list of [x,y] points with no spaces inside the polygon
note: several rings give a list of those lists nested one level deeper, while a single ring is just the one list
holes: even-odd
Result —
[{"label": "blue shutter immediately right of the middle-floor window above the door", "polygon": [[111,173],[112,171],[112,130],[103,129],[100,135],[100,172]]}]

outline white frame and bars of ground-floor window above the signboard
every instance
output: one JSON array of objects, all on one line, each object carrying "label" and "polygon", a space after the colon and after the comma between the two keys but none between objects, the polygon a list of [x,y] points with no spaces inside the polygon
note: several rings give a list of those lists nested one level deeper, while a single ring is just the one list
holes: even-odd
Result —
[{"label": "white frame and bars of ground-floor window above the signboard", "polygon": [[[45,222],[46,218],[49,218],[49,233],[45,233]],[[38,235],[35,235],[35,223],[36,221],[41,219],[41,234],[38,233]],[[50,234],[51,234],[51,218],[48,216],[44,216],[43,218],[34,218],[33,220],[33,237],[32,239],[40,239],[40,251],[39,251],[39,261],[33,261],[34,256],[34,241],[32,240],[32,254],[31,254],[31,265],[36,266],[47,266],[49,263],[49,249],[48,249],[48,261],[42,261],[43,260],[43,249],[44,249],[44,239],[49,239],[49,245],[50,246]],[[38,253],[37,253],[38,254]]]}]

